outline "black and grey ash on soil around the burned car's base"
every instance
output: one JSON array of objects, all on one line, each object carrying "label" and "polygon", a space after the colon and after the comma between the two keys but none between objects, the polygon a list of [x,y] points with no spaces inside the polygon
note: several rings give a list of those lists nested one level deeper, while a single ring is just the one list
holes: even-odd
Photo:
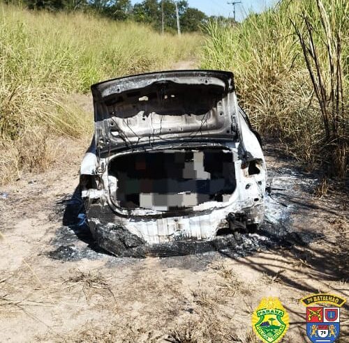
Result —
[{"label": "black and grey ash on soil around the burned car's base", "polygon": [[[127,235],[121,235],[124,239],[121,240],[121,244],[128,248],[123,248],[119,257],[169,257],[209,252],[218,252],[229,257],[244,257],[274,247],[306,246],[315,238],[320,238],[321,233],[306,227],[299,231],[293,225],[295,218],[298,221],[306,220],[306,213],[314,209],[311,204],[312,192],[318,178],[300,171],[292,165],[292,161],[290,164],[283,164],[283,167],[274,167],[271,164],[268,174],[265,222],[258,233],[244,234],[241,241],[236,241],[232,234],[226,234],[217,236],[213,241],[179,241],[154,246],[128,244],[130,242],[126,239]],[[61,218],[63,226],[57,230],[57,235],[52,240],[56,249],[50,252],[50,257],[65,261],[100,259],[105,257],[105,254],[110,255],[106,250],[113,251],[112,245],[116,243],[110,239],[113,236],[110,236],[110,232],[115,233],[117,230],[110,230],[110,226],[107,229],[102,228],[96,243],[84,220],[84,206],[78,187],[72,196],[63,195],[57,201],[53,216],[55,220]]]}]

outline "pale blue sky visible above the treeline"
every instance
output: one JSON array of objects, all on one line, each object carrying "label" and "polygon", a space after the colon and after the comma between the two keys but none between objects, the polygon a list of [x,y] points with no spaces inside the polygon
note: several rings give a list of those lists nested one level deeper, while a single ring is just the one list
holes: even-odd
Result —
[{"label": "pale blue sky visible above the treeline", "polygon": [[[249,10],[253,12],[261,12],[268,6],[276,3],[276,0],[188,0],[189,6],[198,8],[207,15],[224,15],[232,17],[232,6],[227,2],[242,1],[236,5],[237,20],[242,20],[246,17]],[[132,0],[132,3],[142,2]]]}]

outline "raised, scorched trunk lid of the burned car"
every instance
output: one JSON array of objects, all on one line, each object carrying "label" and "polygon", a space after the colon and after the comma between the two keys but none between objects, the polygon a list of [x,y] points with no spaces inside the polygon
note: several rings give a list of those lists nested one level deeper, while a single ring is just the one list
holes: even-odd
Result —
[{"label": "raised, scorched trunk lid of the burned car", "polygon": [[175,70],[91,86],[100,151],[157,142],[237,138],[232,73]]}]

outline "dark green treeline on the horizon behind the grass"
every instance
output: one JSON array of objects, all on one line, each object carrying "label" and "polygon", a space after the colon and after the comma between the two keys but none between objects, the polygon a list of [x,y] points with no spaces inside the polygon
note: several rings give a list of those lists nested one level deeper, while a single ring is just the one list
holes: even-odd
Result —
[{"label": "dark green treeline on the horizon behind the grass", "polygon": [[[17,0],[7,0],[17,3]],[[95,12],[113,20],[133,20],[151,24],[154,29],[162,31],[163,21],[166,32],[177,31],[176,6],[174,0],[144,0],[132,5],[130,0],[23,0],[31,10]],[[189,7],[188,1],[177,1],[181,31],[193,32],[200,30],[208,20],[223,20],[219,17],[207,17],[198,8]]]}]

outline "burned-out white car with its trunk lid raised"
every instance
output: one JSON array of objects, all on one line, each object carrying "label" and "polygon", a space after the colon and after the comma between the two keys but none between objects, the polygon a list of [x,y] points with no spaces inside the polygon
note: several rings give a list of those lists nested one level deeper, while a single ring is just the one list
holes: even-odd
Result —
[{"label": "burned-out white car with its trunk lid raised", "polygon": [[80,189],[98,245],[122,256],[187,254],[262,222],[265,160],[232,73],[148,73],[91,91],[95,132]]}]

